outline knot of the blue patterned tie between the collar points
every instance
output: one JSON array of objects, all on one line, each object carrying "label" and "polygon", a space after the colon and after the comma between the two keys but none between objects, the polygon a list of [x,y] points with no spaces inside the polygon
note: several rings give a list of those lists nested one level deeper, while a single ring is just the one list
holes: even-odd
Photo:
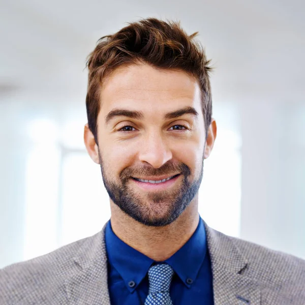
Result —
[{"label": "knot of the blue patterned tie between the collar points", "polygon": [[151,266],[148,269],[149,293],[169,292],[173,275],[173,268],[166,263]]}]

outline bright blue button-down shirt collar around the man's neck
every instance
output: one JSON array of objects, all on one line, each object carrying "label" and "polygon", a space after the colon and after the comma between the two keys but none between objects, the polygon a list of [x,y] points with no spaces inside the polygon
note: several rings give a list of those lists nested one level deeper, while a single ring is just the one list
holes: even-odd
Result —
[{"label": "bright blue button-down shirt collar around the man's neck", "polygon": [[[109,263],[123,278],[130,292],[133,292],[146,276],[154,260],[119,239],[112,231],[110,220],[106,225],[105,242]],[[191,238],[165,262],[174,269],[181,281],[190,288],[206,256],[206,250],[206,233],[203,220],[199,217],[198,226]],[[129,286],[131,281],[135,282],[133,287]]]}]

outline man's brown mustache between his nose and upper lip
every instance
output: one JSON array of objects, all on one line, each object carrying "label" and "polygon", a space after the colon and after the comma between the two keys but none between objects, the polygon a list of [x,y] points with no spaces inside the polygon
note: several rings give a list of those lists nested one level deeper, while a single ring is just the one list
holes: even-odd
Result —
[{"label": "man's brown mustache between his nose and upper lip", "polygon": [[151,166],[141,166],[141,167],[127,167],[123,171],[120,172],[119,177],[121,180],[126,181],[131,177],[139,177],[139,176],[162,176],[162,175],[175,175],[181,173],[185,177],[191,174],[190,168],[184,164],[174,164],[174,163],[166,163],[160,168],[154,168]]}]

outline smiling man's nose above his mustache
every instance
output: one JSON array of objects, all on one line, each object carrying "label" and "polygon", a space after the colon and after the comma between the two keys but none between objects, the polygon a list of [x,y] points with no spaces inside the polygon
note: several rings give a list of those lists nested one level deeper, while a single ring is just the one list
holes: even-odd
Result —
[{"label": "smiling man's nose above his mustache", "polygon": [[149,134],[139,147],[139,160],[147,162],[155,168],[161,167],[172,159],[172,153],[159,134]]}]

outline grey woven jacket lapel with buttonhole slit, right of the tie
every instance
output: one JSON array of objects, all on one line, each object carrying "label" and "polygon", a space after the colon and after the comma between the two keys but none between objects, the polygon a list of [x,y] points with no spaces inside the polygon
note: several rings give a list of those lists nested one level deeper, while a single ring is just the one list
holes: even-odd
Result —
[{"label": "grey woven jacket lapel with buttonhole slit, right of the tie", "polygon": [[215,305],[260,305],[258,283],[247,277],[248,261],[233,239],[205,223]]}]

